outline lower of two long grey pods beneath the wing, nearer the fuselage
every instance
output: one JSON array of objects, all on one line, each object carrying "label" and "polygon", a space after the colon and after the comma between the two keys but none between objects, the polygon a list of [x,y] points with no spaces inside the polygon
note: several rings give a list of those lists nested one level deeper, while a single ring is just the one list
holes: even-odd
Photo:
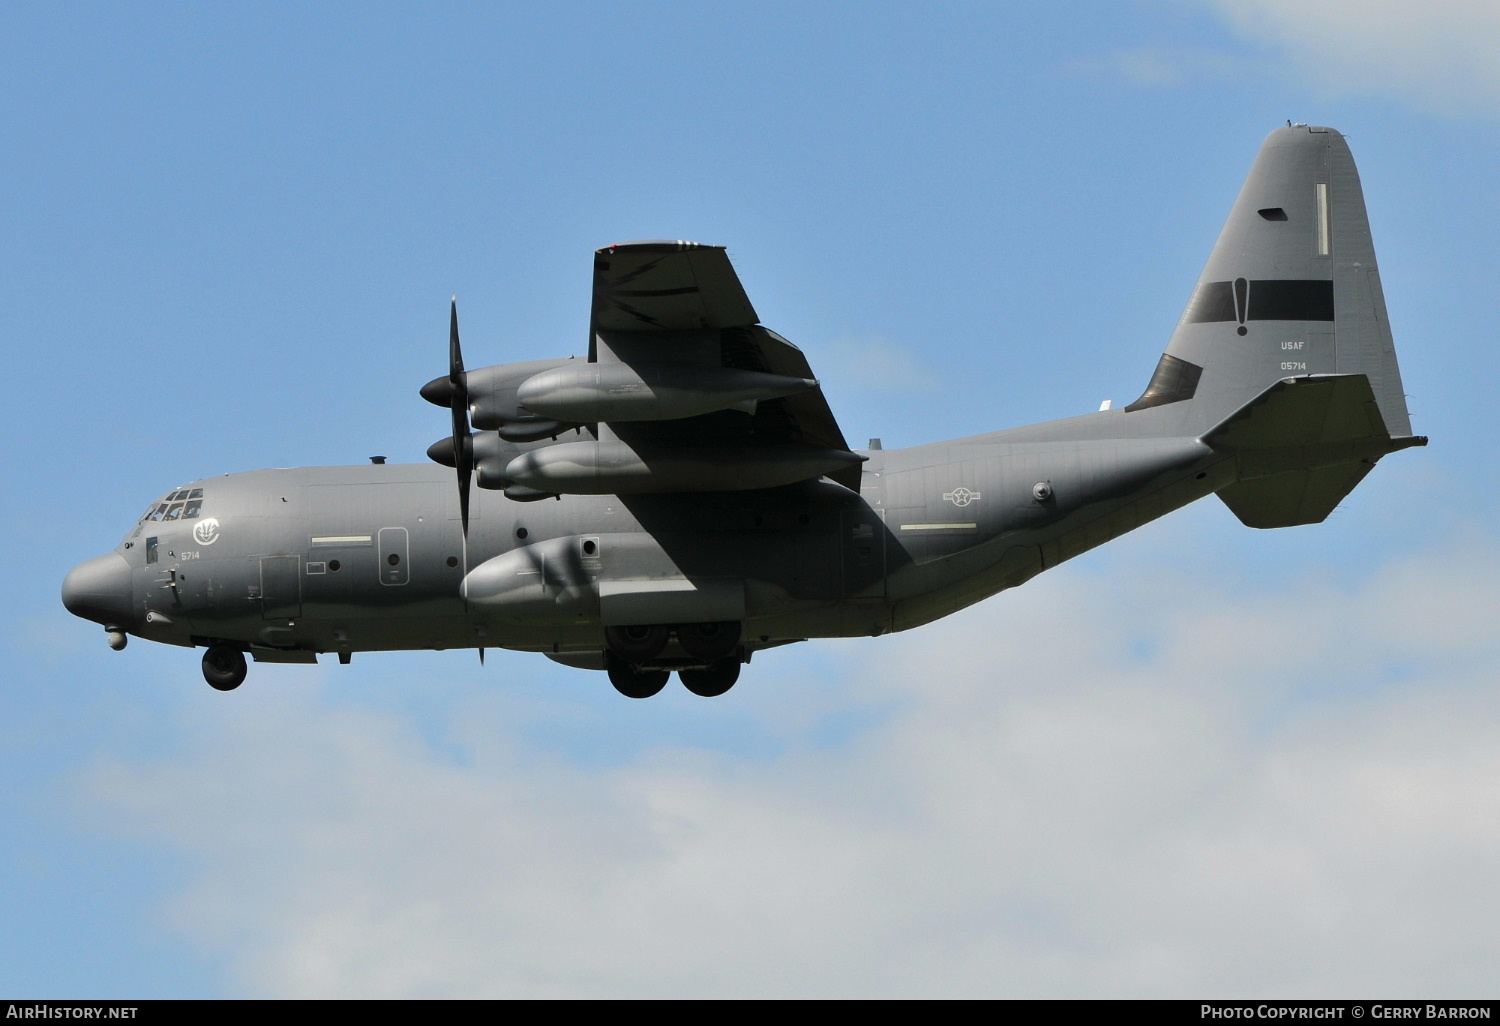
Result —
[{"label": "lower of two long grey pods beneath the wing, nearer the fuselage", "polygon": [[546,446],[510,460],[502,477],[538,492],[642,495],[740,492],[822,477],[867,458],[810,446],[636,452],[616,440]]}]

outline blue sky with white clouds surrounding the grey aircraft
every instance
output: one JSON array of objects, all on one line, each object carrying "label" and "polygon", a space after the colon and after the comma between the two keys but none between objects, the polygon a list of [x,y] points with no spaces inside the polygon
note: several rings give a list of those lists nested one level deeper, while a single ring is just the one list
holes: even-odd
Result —
[{"label": "blue sky with white clouds surrounding the grey aircraft", "polygon": [[[1462,0],[0,9],[0,992],[1492,994],[1497,48]],[[422,459],[448,294],[471,364],[580,352],[610,242],[728,244],[855,441],[1128,402],[1287,118],[1350,138],[1432,436],[1324,525],[1209,500],[708,704],[504,652],[222,696],[57,602],[176,483]]]}]

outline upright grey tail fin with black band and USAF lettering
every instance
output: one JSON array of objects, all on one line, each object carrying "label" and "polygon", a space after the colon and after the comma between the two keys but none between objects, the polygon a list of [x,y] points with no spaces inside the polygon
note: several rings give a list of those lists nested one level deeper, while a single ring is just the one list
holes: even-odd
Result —
[{"label": "upright grey tail fin with black band and USAF lettering", "polygon": [[1146,393],[1191,399],[1202,434],[1282,378],[1362,374],[1392,435],[1410,435],[1359,172],[1344,136],[1274,130],[1239,190]]}]

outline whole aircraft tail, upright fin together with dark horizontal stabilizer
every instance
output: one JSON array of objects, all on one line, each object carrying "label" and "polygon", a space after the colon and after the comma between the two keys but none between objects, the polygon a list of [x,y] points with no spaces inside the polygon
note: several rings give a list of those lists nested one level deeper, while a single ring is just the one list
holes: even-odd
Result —
[{"label": "whole aircraft tail, upright fin together with dark horizontal stabilizer", "polygon": [[[1293,400],[1287,380],[1323,384]],[[1412,438],[1364,190],[1338,132],[1298,124],[1266,136],[1126,410],[1173,404],[1184,434],[1240,456],[1239,483],[1220,496],[1251,526],[1316,524],[1382,454],[1425,444]],[[1317,411],[1346,423],[1326,428]]]}]

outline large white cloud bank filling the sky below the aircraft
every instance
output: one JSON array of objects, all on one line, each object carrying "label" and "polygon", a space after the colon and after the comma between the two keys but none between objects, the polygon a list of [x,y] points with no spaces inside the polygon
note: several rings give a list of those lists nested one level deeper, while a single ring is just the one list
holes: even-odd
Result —
[{"label": "large white cloud bank filling the sky below the aircraft", "polygon": [[840,644],[892,711],[834,747],[579,765],[496,699],[454,759],[266,690],[88,790],[189,858],[172,921],[261,994],[1492,993],[1494,556],[1254,594],[1064,568]]}]

